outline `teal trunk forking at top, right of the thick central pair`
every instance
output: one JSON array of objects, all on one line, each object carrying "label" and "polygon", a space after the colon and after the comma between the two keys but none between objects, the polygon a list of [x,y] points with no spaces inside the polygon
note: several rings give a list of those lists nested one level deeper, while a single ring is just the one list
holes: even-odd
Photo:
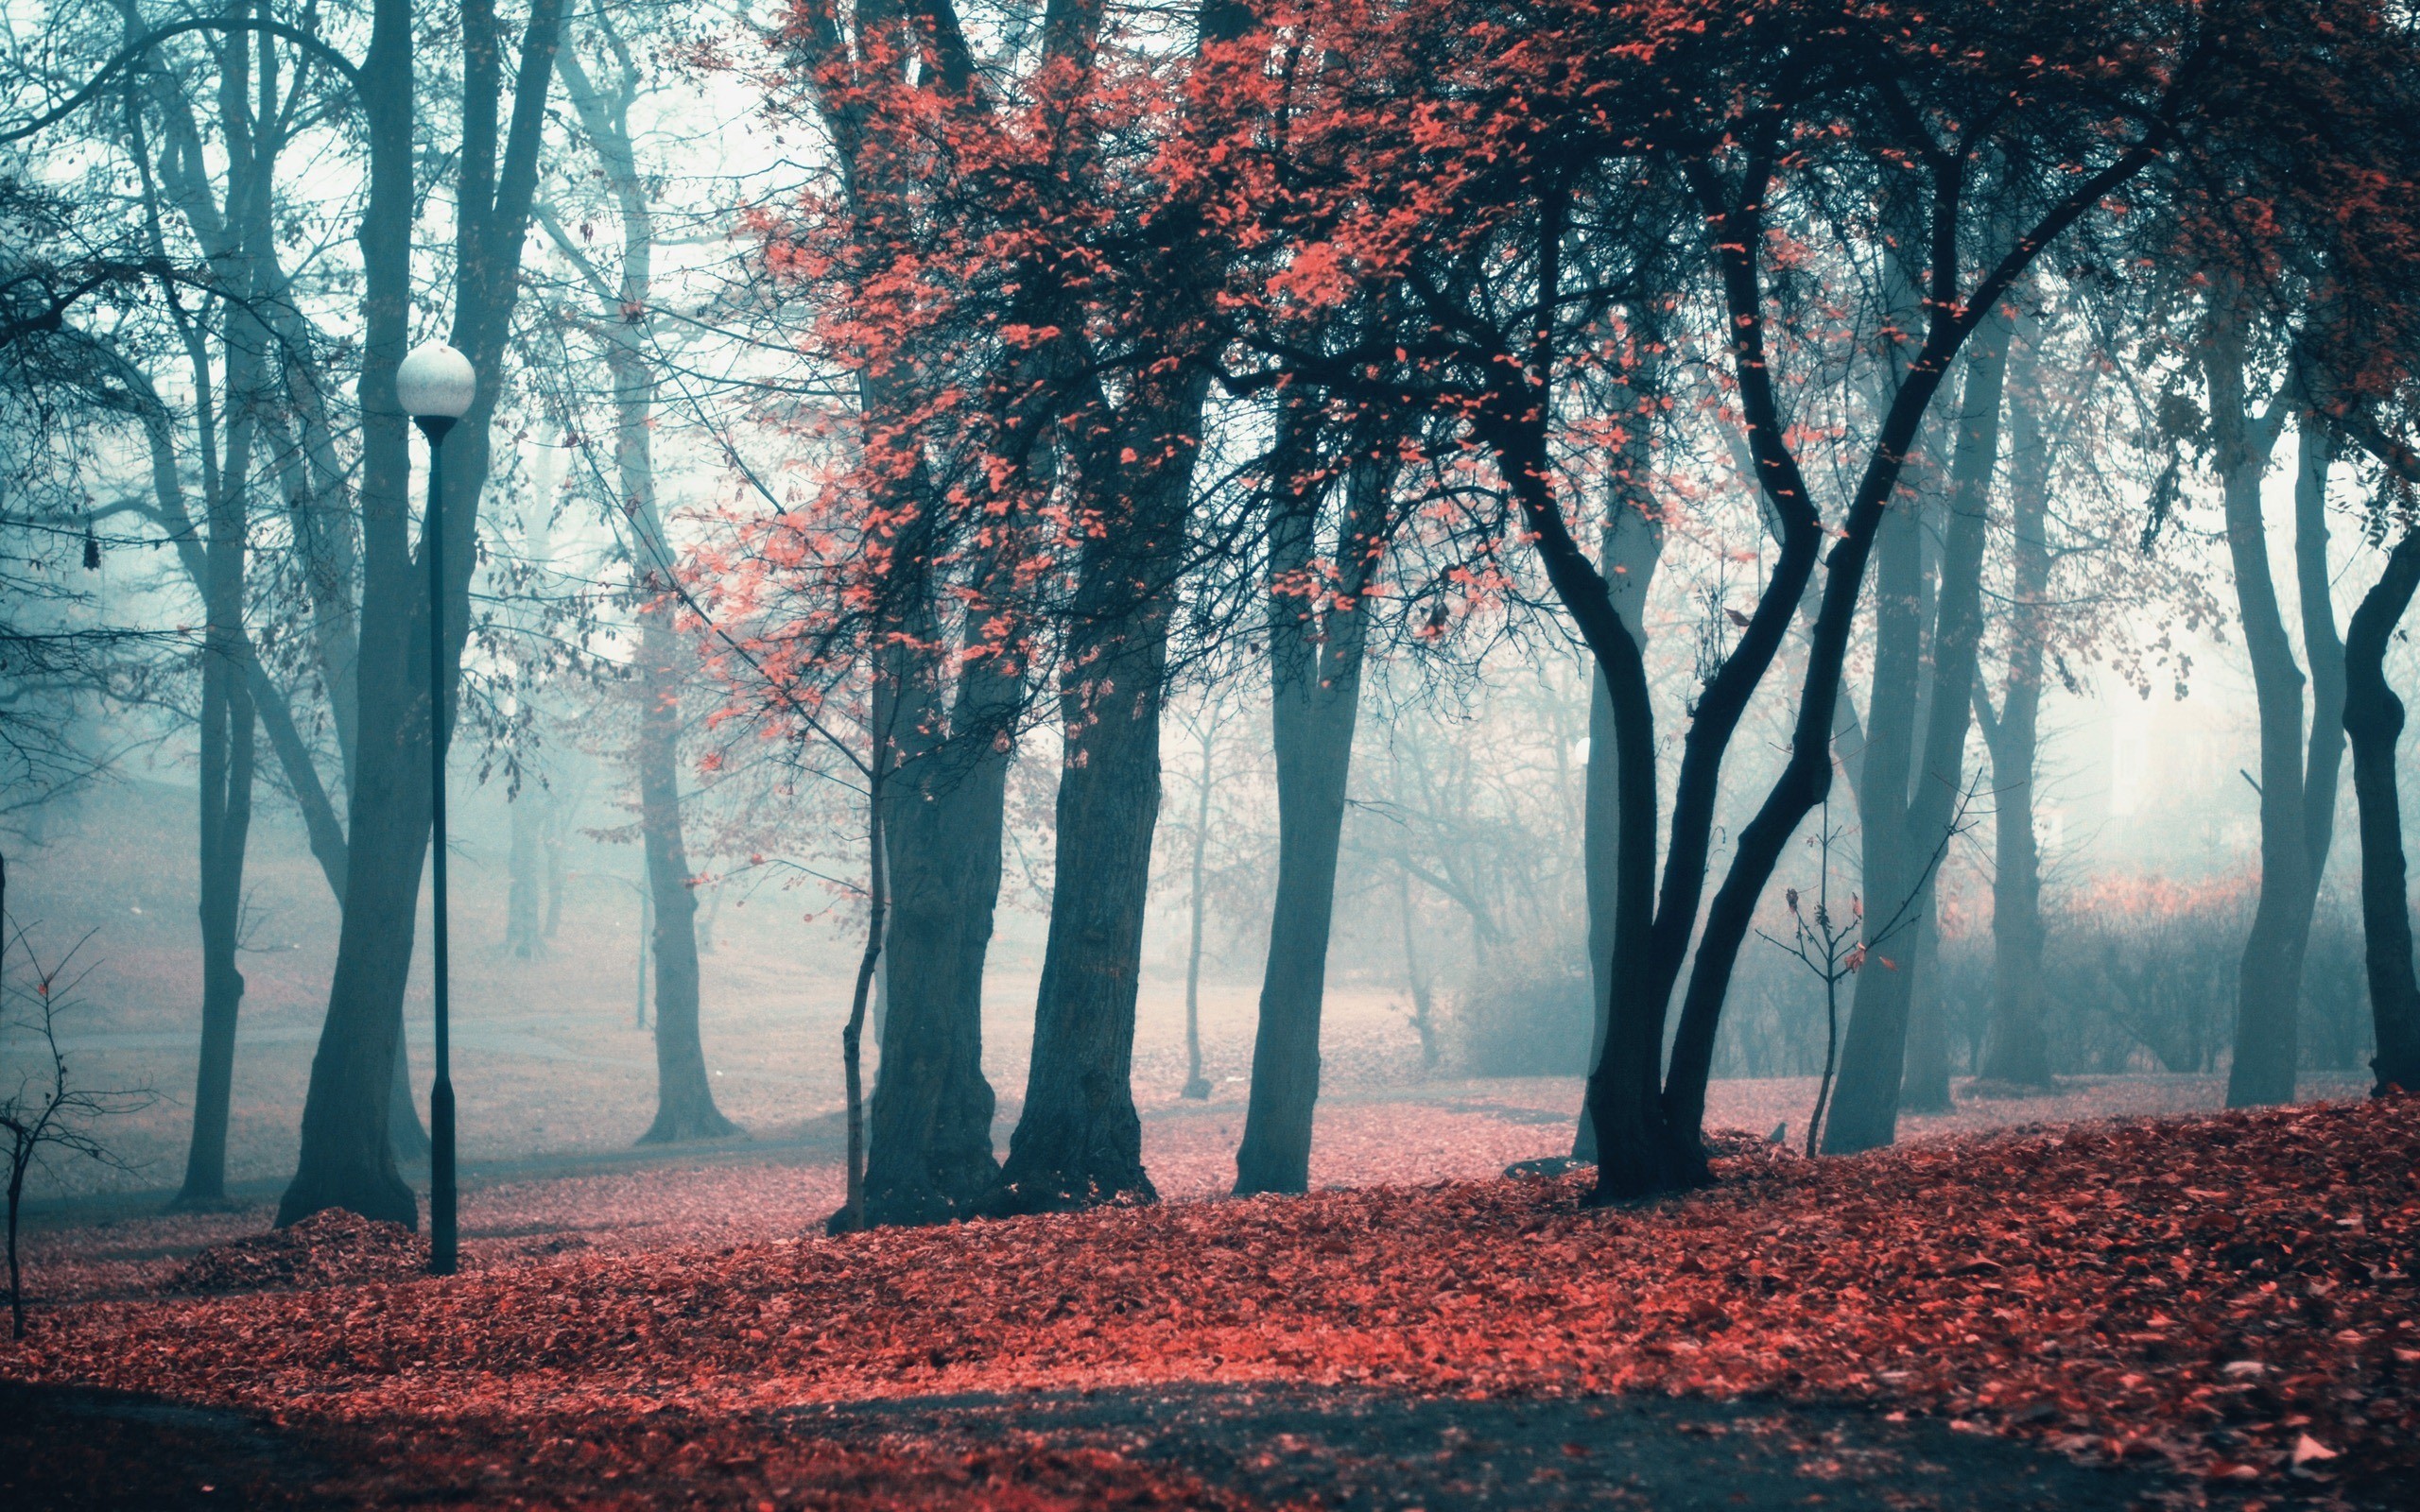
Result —
[{"label": "teal trunk forking at top, right of the thick central pair", "polygon": [[[1336,849],[1343,839],[1353,726],[1370,617],[1362,588],[1387,544],[1394,467],[1346,469],[1336,581],[1314,564],[1316,491],[1280,479],[1268,539],[1268,680],[1278,755],[1278,893],[1251,1045],[1251,1103],[1234,1154],[1234,1195],[1312,1185],[1319,1103],[1319,1009],[1326,994]],[[1333,598],[1331,598],[1333,595]]]}]

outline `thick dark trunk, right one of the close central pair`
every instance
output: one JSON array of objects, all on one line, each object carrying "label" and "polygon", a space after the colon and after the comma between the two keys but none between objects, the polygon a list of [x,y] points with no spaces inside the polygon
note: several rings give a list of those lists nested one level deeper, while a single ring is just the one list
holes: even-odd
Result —
[{"label": "thick dark trunk, right one of the close central pair", "polygon": [[1169,612],[1205,397],[1195,375],[1169,382],[1130,402],[1130,419],[1106,428],[1084,469],[1106,527],[1087,535],[1077,566],[1060,675],[1058,883],[1026,1106],[995,1212],[1157,1200],[1135,1115],[1135,989],[1159,820]]}]

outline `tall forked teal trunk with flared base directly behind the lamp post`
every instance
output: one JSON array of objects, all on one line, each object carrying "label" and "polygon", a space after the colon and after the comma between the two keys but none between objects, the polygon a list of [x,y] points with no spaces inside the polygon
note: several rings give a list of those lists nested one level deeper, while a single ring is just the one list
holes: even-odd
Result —
[{"label": "tall forked teal trunk with flared base directly behind the lamp post", "polygon": [[[327,1021],[302,1103],[302,1156],[278,1202],[293,1224],[324,1207],[419,1222],[419,1202],[394,1168],[387,1098],[411,973],[414,905],[428,856],[428,745],[448,738],[469,629],[469,578],[479,549],[479,489],[489,464],[489,421],[503,380],[508,314],[520,288],[520,252],[537,189],[537,148],[561,0],[535,0],[520,41],[511,133],[501,143],[503,68],[496,15],[465,5],[462,152],[457,174],[457,273],[453,344],[479,375],[472,411],[445,452],[445,656],[428,644],[421,581],[409,542],[407,416],[394,402],[411,293],[411,5],[375,0],[363,58],[363,131],[370,194],[363,249],[363,595],[358,648],[361,723],[346,847],[344,927]],[[433,673],[433,677],[431,677]]]}]

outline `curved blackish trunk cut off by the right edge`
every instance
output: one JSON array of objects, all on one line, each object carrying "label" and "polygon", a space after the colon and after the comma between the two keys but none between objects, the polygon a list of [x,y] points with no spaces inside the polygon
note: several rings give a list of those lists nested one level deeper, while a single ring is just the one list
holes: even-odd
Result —
[{"label": "curved blackish trunk cut off by the right edge", "polygon": [[2420,530],[2386,556],[2386,573],[2352,612],[2345,636],[2345,733],[2352,738],[2352,796],[2362,825],[2362,946],[2369,1016],[2379,1052],[2376,1096],[2420,1091],[2420,980],[2413,975],[2413,914],[2403,871],[2403,796],[2396,740],[2403,699],[2386,682],[2386,641],[2420,588]]}]

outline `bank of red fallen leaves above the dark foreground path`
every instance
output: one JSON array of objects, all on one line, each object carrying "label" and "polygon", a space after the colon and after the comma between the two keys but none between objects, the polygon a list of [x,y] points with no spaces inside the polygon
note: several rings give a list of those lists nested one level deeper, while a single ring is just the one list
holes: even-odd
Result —
[{"label": "bank of red fallen leaves above the dark foreground path", "polygon": [[[0,1374],[453,1435],[472,1459],[561,1442],[590,1490],[695,1447],[680,1485],[772,1505],[818,1485],[796,1468],[791,1497],[748,1468],[796,1456],[801,1410],[1205,1386],[1871,1403],[2226,1500],[2396,1505],[2420,1473],[2420,1098],[1817,1164],[1742,1142],[1718,1168],[1636,1210],[1585,1210],[1578,1178],[1471,1181],[92,1302],[0,1350]],[[910,1500],[917,1476],[999,1500],[970,1490],[966,1452],[917,1444],[866,1430],[830,1454],[905,1454],[883,1476]],[[1012,1449],[1094,1466],[1019,1485],[1099,1476],[1111,1495],[1133,1471],[1166,1490],[1116,1447]],[[1169,1495],[1217,1490],[1188,1476]]]}]

